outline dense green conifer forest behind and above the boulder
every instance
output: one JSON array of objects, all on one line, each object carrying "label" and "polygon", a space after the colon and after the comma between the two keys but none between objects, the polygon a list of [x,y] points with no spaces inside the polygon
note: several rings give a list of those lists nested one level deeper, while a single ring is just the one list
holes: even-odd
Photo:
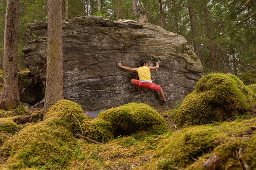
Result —
[{"label": "dense green conifer forest behind and above the boulder", "polygon": [[[200,57],[204,73],[256,73],[255,0],[138,0],[137,14],[132,1],[63,0],[62,16],[63,19],[67,14],[68,18],[93,15],[111,20],[146,20],[184,36]],[[243,6],[246,2],[249,5]],[[3,69],[6,3],[0,0],[0,69]],[[18,68],[22,70],[26,68],[22,49],[27,25],[47,20],[47,1],[20,0],[19,12]]]}]

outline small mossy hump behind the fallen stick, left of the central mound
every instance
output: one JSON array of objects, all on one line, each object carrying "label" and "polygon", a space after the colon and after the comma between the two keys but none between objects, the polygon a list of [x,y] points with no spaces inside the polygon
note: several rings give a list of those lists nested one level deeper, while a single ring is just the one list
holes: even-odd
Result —
[{"label": "small mossy hump behind the fallen stick, left of the central mound", "polygon": [[84,136],[102,142],[114,138],[113,127],[110,122],[95,118],[82,124]]}]

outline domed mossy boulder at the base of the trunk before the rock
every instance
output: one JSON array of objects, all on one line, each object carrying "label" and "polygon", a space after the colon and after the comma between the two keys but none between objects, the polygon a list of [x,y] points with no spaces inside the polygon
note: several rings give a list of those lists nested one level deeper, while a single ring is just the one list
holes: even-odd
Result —
[{"label": "domed mossy boulder at the base of the trunk before the rock", "polygon": [[79,123],[89,120],[81,106],[70,100],[58,101],[48,109],[43,119],[55,119],[56,123],[70,128],[74,134],[81,132]]}]

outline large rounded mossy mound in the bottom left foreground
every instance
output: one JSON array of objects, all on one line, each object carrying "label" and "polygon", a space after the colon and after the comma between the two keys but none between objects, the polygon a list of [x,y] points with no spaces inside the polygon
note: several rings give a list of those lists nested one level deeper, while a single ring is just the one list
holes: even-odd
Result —
[{"label": "large rounded mossy mound in the bottom left foreground", "polygon": [[12,168],[63,166],[72,156],[75,139],[72,132],[46,120],[25,127],[0,148],[8,156],[7,164]]}]

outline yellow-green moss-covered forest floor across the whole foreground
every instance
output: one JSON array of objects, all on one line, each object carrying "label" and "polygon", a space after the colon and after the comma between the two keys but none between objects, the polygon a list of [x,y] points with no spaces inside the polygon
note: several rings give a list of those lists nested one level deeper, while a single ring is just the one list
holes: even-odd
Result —
[{"label": "yellow-green moss-covered forest floor across the whole foreground", "polygon": [[[129,103],[101,112],[95,119],[87,117],[77,103],[69,100],[57,102],[43,119],[42,111],[30,113],[21,106],[1,110],[0,169],[204,169],[211,166],[208,162],[212,158],[218,158],[213,169],[255,169],[256,117],[250,107],[255,104],[255,96],[232,75],[205,78],[196,88],[215,96],[212,101],[226,102],[213,89],[223,87],[221,82],[235,82],[232,87],[242,90],[242,94],[236,89],[227,93],[233,97],[230,100],[237,102],[229,101],[230,106],[226,106],[228,111],[237,113],[232,119],[177,126],[184,103],[165,111]],[[213,87],[208,81],[214,82]],[[239,99],[234,98],[237,95]],[[201,103],[207,104],[203,99]],[[251,105],[243,103],[243,99]],[[22,124],[26,121],[20,120],[26,117],[30,122]]]}]

